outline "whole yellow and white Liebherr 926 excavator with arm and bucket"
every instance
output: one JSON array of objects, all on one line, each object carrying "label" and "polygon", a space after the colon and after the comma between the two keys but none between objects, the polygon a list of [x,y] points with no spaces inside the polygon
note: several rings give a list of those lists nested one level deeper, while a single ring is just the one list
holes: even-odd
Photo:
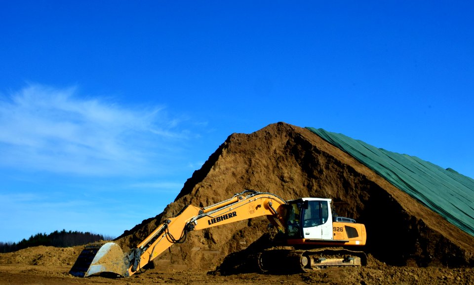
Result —
[{"label": "whole yellow and white Liebherr 926 excavator with arm and bucket", "polygon": [[258,216],[267,216],[283,237],[282,243],[253,257],[261,272],[271,272],[275,260],[296,271],[366,263],[363,251],[350,249],[365,245],[365,226],[333,214],[331,199],[285,201],[272,193],[245,190],[205,208],[186,206],[127,253],[113,242],[86,246],[69,273],[77,277],[104,273],[129,277],[146,269],[173,244],[184,242],[191,231]]}]

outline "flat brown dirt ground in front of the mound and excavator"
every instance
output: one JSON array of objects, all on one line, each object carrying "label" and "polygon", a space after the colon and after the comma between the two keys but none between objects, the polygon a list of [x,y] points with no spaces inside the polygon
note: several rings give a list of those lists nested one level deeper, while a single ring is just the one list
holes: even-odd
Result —
[{"label": "flat brown dirt ground in front of the mound and excavator", "polygon": [[370,255],[365,267],[328,268],[293,275],[248,273],[220,276],[171,265],[149,269],[129,278],[79,278],[68,272],[81,249],[35,247],[0,254],[0,285],[474,284],[474,268],[390,266]]}]

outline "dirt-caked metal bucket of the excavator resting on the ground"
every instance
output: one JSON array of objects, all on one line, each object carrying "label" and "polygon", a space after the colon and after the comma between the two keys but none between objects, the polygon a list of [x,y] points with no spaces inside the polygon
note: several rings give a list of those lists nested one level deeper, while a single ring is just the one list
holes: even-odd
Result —
[{"label": "dirt-caked metal bucket of the excavator resting on the ground", "polygon": [[127,269],[128,262],[122,249],[115,243],[106,243],[85,247],[69,273],[77,277],[94,274],[124,276]]}]

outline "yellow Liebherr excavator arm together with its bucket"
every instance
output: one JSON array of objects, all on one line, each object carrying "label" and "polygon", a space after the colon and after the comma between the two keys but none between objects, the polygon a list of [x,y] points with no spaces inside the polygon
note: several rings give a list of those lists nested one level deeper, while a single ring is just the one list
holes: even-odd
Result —
[{"label": "yellow Liebherr excavator arm together with its bucket", "polygon": [[101,272],[131,276],[173,244],[183,243],[190,231],[258,216],[266,215],[283,232],[286,211],[284,205],[285,200],[275,194],[252,190],[245,190],[203,209],[189,205],[175,217],[158,225],[146,239],[123,257],[117,257],[120,255],[119,247],[114,243],[105,244],[98,249],[84,249],[70,273],[78,277]]}]

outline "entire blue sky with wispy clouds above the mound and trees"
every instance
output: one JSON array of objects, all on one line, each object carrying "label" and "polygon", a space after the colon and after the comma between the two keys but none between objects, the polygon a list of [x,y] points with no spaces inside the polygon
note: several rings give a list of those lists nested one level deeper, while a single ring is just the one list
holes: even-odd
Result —
[{"label": "entire blue sky with wispy clouds above the mound and trees", "polygon": [[0,241],[118,236],[161,213],[230,134],[279,121],[474,178],[473,11],[0,1]]}]

